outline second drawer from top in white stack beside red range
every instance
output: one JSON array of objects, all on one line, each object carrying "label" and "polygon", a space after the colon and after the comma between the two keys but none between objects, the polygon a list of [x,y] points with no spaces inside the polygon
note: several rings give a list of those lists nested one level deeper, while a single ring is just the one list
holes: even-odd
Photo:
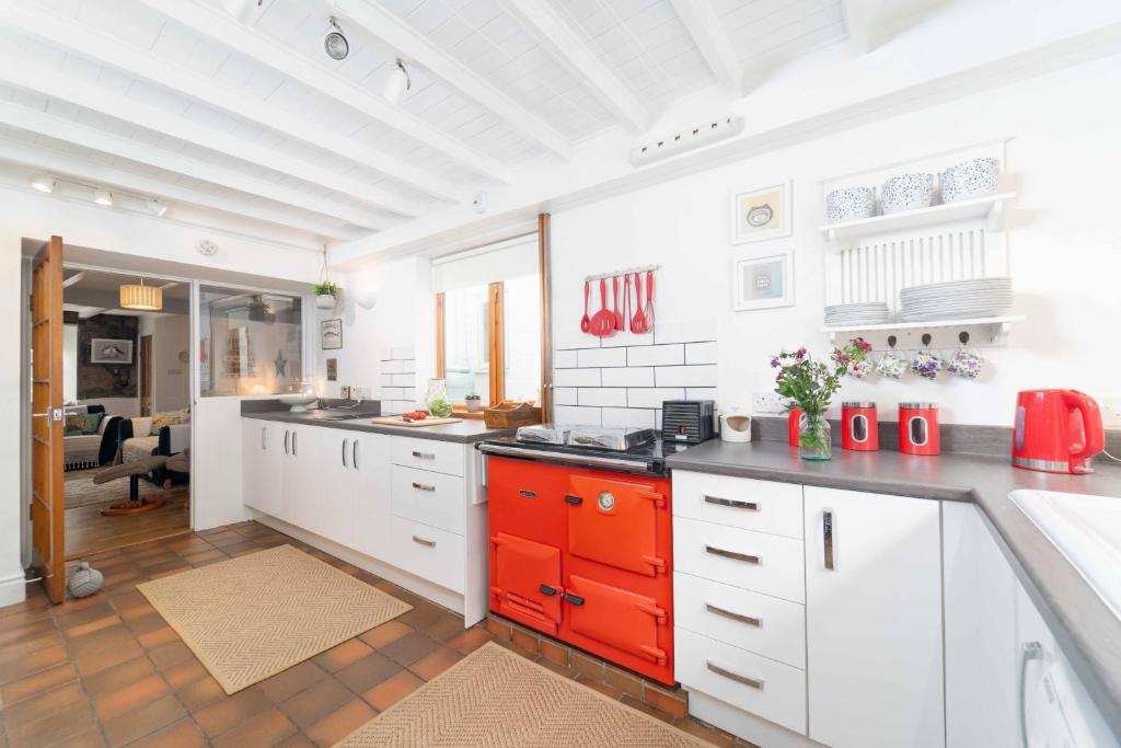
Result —
[{"label": "second drawer from top in white stack beside red range", "polygon": [[806,601],[802,541],[674,517],[674,566],[744,590]]}]

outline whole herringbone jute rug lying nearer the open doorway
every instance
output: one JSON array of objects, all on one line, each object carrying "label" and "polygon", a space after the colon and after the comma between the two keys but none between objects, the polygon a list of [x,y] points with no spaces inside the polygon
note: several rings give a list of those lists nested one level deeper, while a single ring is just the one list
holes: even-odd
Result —
[{"label": "whole herringbone jute rug lying nearer the open doorway", "polygon": [[228,694],[413,608],[290,545],[137,589]]}]

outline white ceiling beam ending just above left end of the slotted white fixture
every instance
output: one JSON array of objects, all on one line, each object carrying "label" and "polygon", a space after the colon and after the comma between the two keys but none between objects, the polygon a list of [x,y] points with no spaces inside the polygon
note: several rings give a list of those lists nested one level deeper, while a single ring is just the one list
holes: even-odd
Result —
[{"label": "white ceiling beam ending just above left end of the slotted white fixture", "polygon": [[600,56],[545,0],[501,0],[529,36],[563,65],[615,119],[634,132],[646,131],[649,112]]}]

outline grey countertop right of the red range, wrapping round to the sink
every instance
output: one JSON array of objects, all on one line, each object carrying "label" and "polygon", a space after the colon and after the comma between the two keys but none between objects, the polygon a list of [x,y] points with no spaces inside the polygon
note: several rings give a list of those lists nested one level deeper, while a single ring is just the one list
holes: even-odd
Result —
[{"label": "grey countertop right of the red range, wrapping round to the sink", "polygon": [[976,504],[1106,721],[1121,735],[1121,620],[1008,498],[1015,489],[1121,497],[1121,469],[1099,463],[1093,474],[1067,475],[1018,470],[1007,458],[839,449],[833,460],[808,462],[785,442],[719,440],[666,463],[673,470]]}]

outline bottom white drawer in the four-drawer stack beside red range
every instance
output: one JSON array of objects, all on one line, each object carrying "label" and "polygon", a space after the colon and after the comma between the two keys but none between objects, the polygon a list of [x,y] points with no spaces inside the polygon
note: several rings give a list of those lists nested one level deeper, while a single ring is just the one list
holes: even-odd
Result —
[{"label": "bottom white drawer in the four-drawer stack beside red range", "polygon": [[680,626],[674,637],[675,675],[686,689],[806,735],[805,672]]}]

